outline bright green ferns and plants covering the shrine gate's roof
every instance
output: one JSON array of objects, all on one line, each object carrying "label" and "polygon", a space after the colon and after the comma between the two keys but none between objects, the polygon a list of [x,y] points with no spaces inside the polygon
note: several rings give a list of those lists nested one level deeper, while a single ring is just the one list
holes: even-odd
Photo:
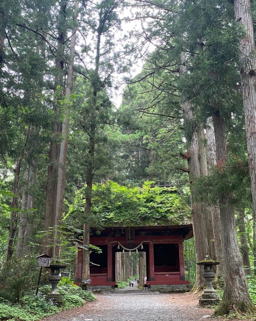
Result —
[{"label": "bright green ferns and plants covering the shrine gate's roof", "polygon": [[[91,226],[179,225],[191,223],[190,209],[175,188],[126,187],[112,181],[93,189]],[[76,193],[68,220],[83,220],[85,187]],[[97,218],[97,219],[96,219]],[[100,223],[100,224],[99,224]],[[80,223],[81,224],[81,223]],[[95,225],[96,224],[96,225]]]}]

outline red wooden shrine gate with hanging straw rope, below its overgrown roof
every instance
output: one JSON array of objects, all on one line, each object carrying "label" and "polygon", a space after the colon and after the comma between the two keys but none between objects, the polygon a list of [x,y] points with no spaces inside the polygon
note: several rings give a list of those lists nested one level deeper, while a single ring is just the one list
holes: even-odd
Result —
[{"label": "red wooden shrine gate with hanging straw rope, below its overgrown roof", "polygon": [[[147,284],[189,284],[185,280],[183,240],[193,237],[192,224],[177,226],[106,227],[100,235],[92,230],[90,244],[102,253],[90,254],[92,286],[116,286],[116,252],[146,252]],[[77,282],[82,277],[82,250],[78,251]]]}]

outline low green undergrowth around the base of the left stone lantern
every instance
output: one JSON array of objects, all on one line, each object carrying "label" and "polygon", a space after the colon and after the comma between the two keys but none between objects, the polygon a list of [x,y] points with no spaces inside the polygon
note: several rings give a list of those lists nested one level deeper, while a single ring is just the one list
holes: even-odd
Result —
[{"label": "low green undergrowth around the base of the left stone lantern", "polygon": [[58,313],[63,309],[72,309],[87,301],[95,300],[92,292],[83,291],[76,285],[62,285],[58,291],[62,295],[64,305],[57,307],[45,295],[51,290],[50,285],[40,287],[38,295],[26,294],[19,304],[11,304],[7,300],[0,303],[0,319],[3,321],[36,321],[43,317]]}]

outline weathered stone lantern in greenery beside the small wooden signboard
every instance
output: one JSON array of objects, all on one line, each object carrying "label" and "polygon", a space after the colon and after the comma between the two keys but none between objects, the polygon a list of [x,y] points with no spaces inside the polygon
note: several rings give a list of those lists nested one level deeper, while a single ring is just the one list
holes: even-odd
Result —
[{"label": "weathered stone lantern in greenery beside the small wooden signboard", "polygon": [[52,262],[48,269],[51,269],[51,274],[49,275],[48,280],[52,284],[52,291],[47,295],[48,299],[52,299],[52,301],[58,305],[62,305],[62,297],[59,291],[57,290],[57,284],[61,280],[60,269],[65,269],[67,265],[60,263],[59,261]]}]

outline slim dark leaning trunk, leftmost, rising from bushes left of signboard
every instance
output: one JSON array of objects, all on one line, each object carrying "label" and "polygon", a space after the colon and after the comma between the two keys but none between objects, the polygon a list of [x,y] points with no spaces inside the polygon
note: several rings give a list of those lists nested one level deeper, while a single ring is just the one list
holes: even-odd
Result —
[{"label": "slim dark leaning trunk, leftmost, rising from bushes left of signboard", "polygon": [[[24,145],[21,151],[21,156],[16,163],[15,170],[14,170],[14,181],[12,187],[12,203],[11,203],[11,214],[10,214],[10,223],[9,223],[9,230],[8,230],[8,239],[7,239],[7,249],[6,249],[6,261],[9,261],[12,258],[13,250],[14,250],[14,242],[15,242],[15,233],[17,230],[18,224],[18,207],[19,207],[19,183],[20,183],[20,169],[21,163],[24,157],[24,153],[26,150],[26,146],[28,143],[28,136],[29,136],[30,126],[28,127]],[[17,209],[17,210],[15,210]]]}]

